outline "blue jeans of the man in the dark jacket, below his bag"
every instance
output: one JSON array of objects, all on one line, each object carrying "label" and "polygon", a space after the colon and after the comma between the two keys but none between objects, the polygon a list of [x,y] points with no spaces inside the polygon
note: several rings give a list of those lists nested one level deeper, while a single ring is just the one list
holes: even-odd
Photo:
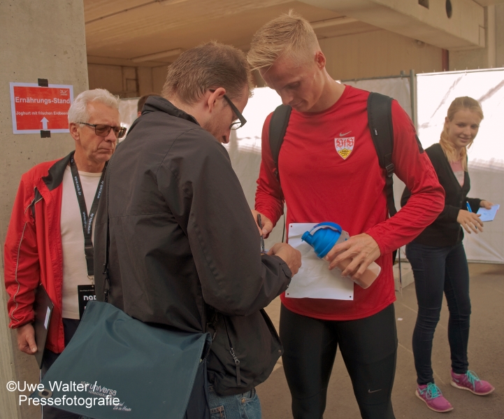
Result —
[{"label": "blue jeans of the man in the dark jacket, below his bag", "polygon": [[255,388],[241,395],[221,397],[208,387],[211,419],[261,419],[261,403]]}]

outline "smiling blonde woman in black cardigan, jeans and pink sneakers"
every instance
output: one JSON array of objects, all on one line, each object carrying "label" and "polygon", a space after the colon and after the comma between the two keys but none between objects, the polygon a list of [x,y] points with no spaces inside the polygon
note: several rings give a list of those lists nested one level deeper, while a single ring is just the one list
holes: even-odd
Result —
[{"label": "smiling blonde woman in black cardigan, jeans and pink sneakers", "polygon": [[[445,189],[445,209],[417,239],[406,246],[417,290],[418,317],[413,332],[413,354],[417,369],[416,395],[429,409],[451,411],[452,405],[434,383],[431,367],[432,341],[440,317],[442,294],[449,308],[448,340],[455,388],[475,395],[488,395],[494,387],[468,370],[469,271],[463,249],[463,229],[469,234],[483,231],[477,209],[491,207],[489,201],[468,198],[470,180],[467,148],[473,143],[483,112],[470,97],[458,97],[449,106],[439,143],[426,149],[439,182]],[[406,188],[401,204],[410,197]]]}]

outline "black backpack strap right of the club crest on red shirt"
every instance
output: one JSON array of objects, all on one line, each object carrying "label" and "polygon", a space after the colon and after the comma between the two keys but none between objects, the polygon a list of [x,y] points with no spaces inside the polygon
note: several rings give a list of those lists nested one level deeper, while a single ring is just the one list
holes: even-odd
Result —
[{"label": "black backpack strap right of the club crest on red shirt", "polygon": [[380,167],[385,172],[385,194],[389,215],[396,215],[394,202],[394,126],[392,125],[392,98],[384,94],[371,92],[368,97],[368,125],[375,143],[376,154]]}]

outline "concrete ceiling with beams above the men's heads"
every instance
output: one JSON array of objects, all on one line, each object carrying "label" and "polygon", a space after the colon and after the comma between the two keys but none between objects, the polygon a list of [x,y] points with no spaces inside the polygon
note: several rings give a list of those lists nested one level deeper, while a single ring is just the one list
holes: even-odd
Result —
[{"label": "concrete ceiling with beams above the men's heads", "polygon": [[441,0],[84,0],[87,61],[166,65],[210,40],[246,51],[262,24],[290,8],[319,38],[387,29],[449,50],[482,48],[480,3],[499,1],[453,0],[447,16]]}]

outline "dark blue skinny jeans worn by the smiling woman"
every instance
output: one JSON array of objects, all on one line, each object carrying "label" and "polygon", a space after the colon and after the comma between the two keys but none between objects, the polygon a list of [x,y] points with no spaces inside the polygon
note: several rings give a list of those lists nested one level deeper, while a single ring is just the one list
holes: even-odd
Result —
[{"label": "dark blue skinny jeans worn by the smiling woman", "polygon": [[466,373],[470,298],[469,269],[462,243],[440,248],[410,243],[406,246],[406,257],[415,276],[418,301],[417,324],[413,332],[417,383],[434,382],[432,341],[440,317],[443,292],[449,311],[448,341],[452,369],[456,374]]}]

